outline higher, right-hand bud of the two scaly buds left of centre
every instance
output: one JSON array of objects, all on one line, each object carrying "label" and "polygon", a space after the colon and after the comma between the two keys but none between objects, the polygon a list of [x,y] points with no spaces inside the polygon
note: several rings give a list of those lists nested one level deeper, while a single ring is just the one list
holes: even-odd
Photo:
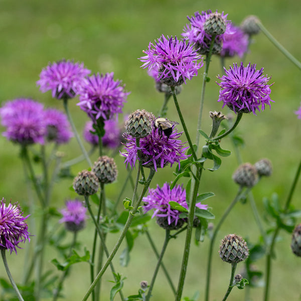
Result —
[{"label": "higher, right-hand bud of the two scaly buds left of centre", "polygon": [[94,162],[92,172],[98,178],[99,183],[112,183],[117,178],[117,166],[113,158],[107,156],[99,157],[96,162]]}]

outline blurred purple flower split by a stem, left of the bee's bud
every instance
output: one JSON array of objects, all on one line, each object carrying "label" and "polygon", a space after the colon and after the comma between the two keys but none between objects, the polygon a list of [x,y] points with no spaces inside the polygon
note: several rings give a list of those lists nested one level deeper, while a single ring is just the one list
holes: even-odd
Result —
[{"label": "blurred purple flower split by a stem, left of the bee's bud", "polygon": [[[121,143],[121,132],[118,126],[117,119],[109,119],[104,121],[104,130],[105,134],[102,137],[102,145],[108,148],[116,148]],[[98,144],[98,136],[96,134],[91,133],[95,132],[93,128],[93,122],[87,121],[84,127],[84,138],[87,142],[92,145]]]}]

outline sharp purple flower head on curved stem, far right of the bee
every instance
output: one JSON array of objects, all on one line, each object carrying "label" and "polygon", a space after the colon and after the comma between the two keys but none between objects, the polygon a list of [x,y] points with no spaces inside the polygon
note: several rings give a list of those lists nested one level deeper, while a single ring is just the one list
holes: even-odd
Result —
[{"label": "sharp purple flower head on curved stem, far right of the bee", "polygon": [[251,63],[244,67],[241,62],[239,67],[233,64],[229,70],[224,68],[225,75],[217,77],[221,80],[217,82],[221,87],[218,101],[223,102],[223,107],[227,105],[235,113],[253,112],[256,115],[260,107],[264,110],[266,105],[271,106],[270,102],[274,101],[269,96],[272,85],[268,84],[270,77],[262,75],[263,68],[256,70],[255,67],[256,64]]}]

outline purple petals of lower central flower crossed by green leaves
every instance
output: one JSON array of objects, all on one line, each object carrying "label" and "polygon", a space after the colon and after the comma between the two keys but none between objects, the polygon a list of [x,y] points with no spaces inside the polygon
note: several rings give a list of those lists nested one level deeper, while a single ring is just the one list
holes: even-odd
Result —
[{"label": "purple petals of lower central flower crossed by green leaves", "polygon": [[[176,185],[171,189],[168,183],[165,183],[162,188],[157,185],[156,189],[150,188],[148,195],[142,199],[142,202],[144,202],[143,211],[148,212],[149,210],[154,210],[152,218],[155,216],[167,217],[169,225],[172,223],[177,225],[181,212],[171,208],[169,204],[171,201],[177,202],[188,210],[186,191],[183,186]],[[197,203],[196,207],[207,210],[208,205]]]}]

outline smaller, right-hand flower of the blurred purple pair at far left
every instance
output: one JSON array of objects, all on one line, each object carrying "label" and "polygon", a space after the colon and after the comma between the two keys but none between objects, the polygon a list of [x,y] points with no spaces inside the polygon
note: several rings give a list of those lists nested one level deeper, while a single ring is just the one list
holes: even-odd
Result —
[{"label": "smaller, right-hand flower of the blurred purple pair at far left", "polygon": [[73,137],[70,123],[63,112],[47,109],[44,112],[44,118],[47,125],[46,137],[49,141],[61,144],[67,143]]}]

